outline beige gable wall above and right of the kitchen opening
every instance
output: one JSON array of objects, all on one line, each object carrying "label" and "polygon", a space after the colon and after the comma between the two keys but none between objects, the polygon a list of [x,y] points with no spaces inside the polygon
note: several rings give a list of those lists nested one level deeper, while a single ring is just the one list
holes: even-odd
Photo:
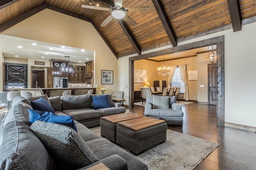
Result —
[{"label": "beige gable wall above and right of the kitchen opening", "polygon": [[[118,90],[117,59],[89,22],[45,9],[2,34],[96,51],[94,77],[98,89],[104,87],[107,89],[106,93]],[[101,85],[102,69],[113,70],[113,85]]]}]

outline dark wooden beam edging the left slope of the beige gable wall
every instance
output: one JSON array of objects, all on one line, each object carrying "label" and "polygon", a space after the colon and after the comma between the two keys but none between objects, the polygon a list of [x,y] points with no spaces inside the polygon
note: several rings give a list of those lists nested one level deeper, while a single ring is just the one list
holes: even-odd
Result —
[{"label": "dark wooden beam edging the left slope of the beige gable wall", "polygon": [[24,14],[0,25],[0,33],[7,30],[8,28],[11,28],[12,26],[18,24],[19,22],[22,22],[23,20],[26,20],[30,16],[33,16],[34,14],[37,14],[38,12],[44,10],[45,8],[42,6],[37,6],[33,8],[32,10],[25,12]]}]

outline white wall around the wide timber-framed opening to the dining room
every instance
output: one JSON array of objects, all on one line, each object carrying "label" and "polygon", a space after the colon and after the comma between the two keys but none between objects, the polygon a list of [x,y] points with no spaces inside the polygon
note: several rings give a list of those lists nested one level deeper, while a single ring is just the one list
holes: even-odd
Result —
[{"label": "white wall around the wide timber-framed opening to the dining room", "polygon": [[[242,26],[242,31],[232,29],[178,43],[183,45],[224,35],[224,121],[256,127],[256,23]],[[120,75],[129,76],[129,57],[118,59]],[[122,83],[128,83],[123,79]],[[200,85],[200,83],[198,83]],[[246,90],[244,90],[244,88]],[[125,91],[128,93],[128,90]],[[125,95],[125,99],[129,97]]]}]

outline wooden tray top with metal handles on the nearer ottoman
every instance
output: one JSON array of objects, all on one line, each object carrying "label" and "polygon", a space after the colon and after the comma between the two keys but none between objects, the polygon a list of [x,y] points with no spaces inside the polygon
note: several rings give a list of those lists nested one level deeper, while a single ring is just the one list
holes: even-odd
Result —
[{"label": "wooden tray top with metal handles on the nearer ottoman", "polygon": [[164,123],[164,120],[155,119],[152,117],[140,117],[137,119],[132,119],[128,121],[119,122],[119,125],[125,126],[132,130],[138,131],[144,128],[152,127],[154,125],[158,125],[160,123]]}]

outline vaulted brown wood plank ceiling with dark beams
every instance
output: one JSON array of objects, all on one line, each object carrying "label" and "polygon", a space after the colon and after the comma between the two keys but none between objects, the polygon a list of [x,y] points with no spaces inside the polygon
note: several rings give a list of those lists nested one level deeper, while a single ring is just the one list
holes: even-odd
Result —
[{"label": "vaulted brown wood plank ceiling with dark beams", "polygon": [[[123,0],[123,7],[154,6],[148,12],[127,12],[138,24],[113,19],[100,24],[108,11],[82,8],[90,0],[1,0],[0,32],[49,8],[91,22],[116,57],[177,42],[192,36],[242,29],[242,21],[256,22],[256,0]],[[109,8],[114,0],[94,0],[92,6]]]}]

